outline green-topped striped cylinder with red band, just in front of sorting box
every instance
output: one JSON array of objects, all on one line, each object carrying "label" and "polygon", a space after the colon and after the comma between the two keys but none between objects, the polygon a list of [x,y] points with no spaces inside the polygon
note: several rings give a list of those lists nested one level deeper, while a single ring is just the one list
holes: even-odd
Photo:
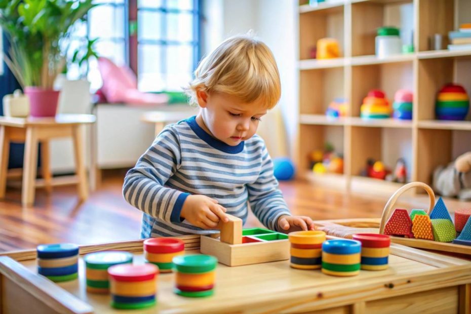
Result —
[{"label": "green-topped striped cylinder with red band, just in front of sorting box", "polygon": [[210,255],[185,255],[173,259],[175,293],[184,297],[207,297],[214,293],[217,258]]}]

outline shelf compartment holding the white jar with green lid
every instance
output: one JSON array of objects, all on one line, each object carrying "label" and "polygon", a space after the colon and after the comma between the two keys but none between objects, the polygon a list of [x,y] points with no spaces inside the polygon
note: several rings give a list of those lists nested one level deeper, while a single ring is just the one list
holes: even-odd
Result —
[{"label": "shelf compartment holding the white jar with green lid", "polygon": [[382,26],[400,28],[403,44],[412,43],[412,0],[352,2],[351,14],[351,55],[354,57],[375,54],[376,31]]}]

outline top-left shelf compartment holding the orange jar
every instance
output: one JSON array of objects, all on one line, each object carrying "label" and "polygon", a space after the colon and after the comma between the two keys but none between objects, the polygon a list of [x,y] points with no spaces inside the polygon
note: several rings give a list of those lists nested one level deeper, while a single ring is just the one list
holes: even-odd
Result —
[{"label": "top-left shelf compartment holding the orange jar", "polygon": [[340,56],[344,55],[343,6],[329,10],[310,10],[299,15],[299,59],[312,59],[310,51],[321,38],[332,37],[338,41]]}]

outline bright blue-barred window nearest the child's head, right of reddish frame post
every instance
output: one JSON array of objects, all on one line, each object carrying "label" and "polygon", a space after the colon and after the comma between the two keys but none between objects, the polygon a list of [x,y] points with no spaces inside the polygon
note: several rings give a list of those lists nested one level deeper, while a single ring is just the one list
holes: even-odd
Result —
[{"label": "bright blue-barred window nearest the child's head, right of reddish frame post", "polygon": [[198,0],[138,0],[138,88],[181,91],[199,60]]}]

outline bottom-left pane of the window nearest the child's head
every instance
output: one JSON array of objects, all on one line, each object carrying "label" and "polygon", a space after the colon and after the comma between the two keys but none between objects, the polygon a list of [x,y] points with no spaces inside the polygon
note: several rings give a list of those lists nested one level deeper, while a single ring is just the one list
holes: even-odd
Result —
[{"label": "bottom-left pane of the window nearest the child's head", "polygon": [[138,89],[143,92],[164,90],[162,47],[157,45],[139,45],[137,53]]}]

